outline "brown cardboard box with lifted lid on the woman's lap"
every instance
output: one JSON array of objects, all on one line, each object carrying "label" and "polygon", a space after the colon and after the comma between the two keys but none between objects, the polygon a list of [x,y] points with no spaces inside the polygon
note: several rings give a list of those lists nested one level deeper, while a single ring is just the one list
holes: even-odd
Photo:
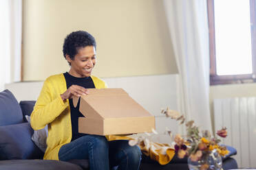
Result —
[{"label": "brown cardboard box with lifted lid on the woman's lap", "polygon": [[[73,98],[74,107],[78,97]],[[78,132],[114,135],[151,132],[155,117],[142,108],[122,88],[90,88],[89,95],[80,97],[79,110],[85,117],[78,119]]]}]

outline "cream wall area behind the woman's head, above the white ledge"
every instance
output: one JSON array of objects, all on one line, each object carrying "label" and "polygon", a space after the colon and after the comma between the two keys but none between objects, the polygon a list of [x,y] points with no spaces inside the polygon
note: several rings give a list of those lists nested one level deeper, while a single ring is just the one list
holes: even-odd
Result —
[{"label": "cream wall area behind the woman's head, above the white ledge", "polygon": [[63,40],[83,29],[97,42],[94,75],[178,73],[159,0],[23,0],[23,80],[68,71]]}]

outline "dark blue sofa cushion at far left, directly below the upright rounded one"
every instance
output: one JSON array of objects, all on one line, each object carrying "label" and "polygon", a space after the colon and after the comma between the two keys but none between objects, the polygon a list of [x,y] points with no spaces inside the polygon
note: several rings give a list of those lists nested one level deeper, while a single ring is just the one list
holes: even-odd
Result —
[{"label": "dark blue sofa cushion at far left, directly below the upright rounded one", "polygon": [[43,152],[31,140],[29,123],[0,126],[0,160],[43,158]]}]

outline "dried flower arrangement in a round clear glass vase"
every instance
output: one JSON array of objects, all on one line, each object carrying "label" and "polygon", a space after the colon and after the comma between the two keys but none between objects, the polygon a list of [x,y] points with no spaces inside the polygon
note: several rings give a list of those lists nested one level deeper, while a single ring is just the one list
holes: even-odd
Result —
[{"label": "dried flower arrangement in a round clear glass vase", "polygon": [[[191,169],[206,170],[221,168],[222,159],[220,156],[225,156],[228,154],[228,149],[222,145],[219,145],[220,139],[217,138],[216,135],[211,136],[208,130],[203,130],[200,132],[199,127],[194,125],[194,121],[186,121],[184,115],[180,114],[178,111],[169,110],[169,108],[167,108],[162,109],[161,113],[165,114],[166,117],[179,121],[180,125],[184,124],[186,126],[186,136],[182,138],[180,134],[176,134],[173,140],[175,144],[173,145],[153,143],[151,140],[149,140],[149,138],[145,136],[137,136],[135,138],[129,139],[129,145],[140,146],[142,153],[146,156],[149,156],[150,152],[158,152],[161,155],[167,156],[167,148],[172,150],[175,149],[175,154],[177,154],[178,158],[184,158],[185,156],[188,156],[189,160],[196,164],[195,166],[191,165]],[[158,135],[156,130],[152,130],[152,132],[152,134],[147,132],[145,132],[145,134],[146,136]],[[167,130],[165,134],[168,134],[171,139],[173,138],[171,130]],[[223,127],[222,130],[218,130],[217,135],[225,138],[227,136],[226,127]],[[152,159],[156,160],[156,158],[159,156],[160,155],[153,156]],[[170,161],[171,158],[167,160]],[[168,163],[167,161],[160,162],[160,160],[161,159],[158,159],[158,162],[161,165]]]}]

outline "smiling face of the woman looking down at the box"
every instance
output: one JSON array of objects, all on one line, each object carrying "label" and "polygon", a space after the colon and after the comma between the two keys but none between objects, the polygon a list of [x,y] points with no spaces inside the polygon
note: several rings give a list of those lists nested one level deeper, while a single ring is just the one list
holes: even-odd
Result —
[{"label": "smiling face of the woman looking down at the box", "polygon": [[78,50],[74,60],[67,55],[67,61],[71,63],[69,73],[74,77],[89,77],[96,63],[96,51],[94,46],[87,46]]}]

